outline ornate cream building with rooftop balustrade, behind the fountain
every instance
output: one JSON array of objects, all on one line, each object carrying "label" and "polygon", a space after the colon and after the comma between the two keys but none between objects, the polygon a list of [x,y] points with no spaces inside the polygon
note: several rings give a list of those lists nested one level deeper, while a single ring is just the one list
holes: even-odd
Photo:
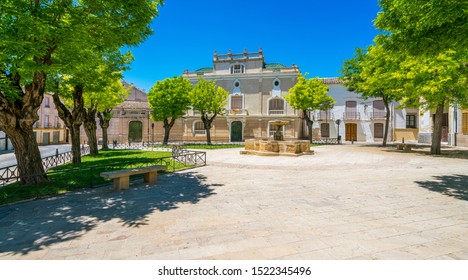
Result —
[{"label": "ornate cream building with rooftop balustrade, behind the fountain", "polygon": [[[289,121],[283,129],[286,139],[303,134],[298,113],[291,108],[284,95],[297,82],[299,69],[280,63],[266,63],[263,51],[213,56],[213,66],[194,72],[185,71],[183,77],[196,84],[198,77],[216,81],[229,92],[226,114],[215,119],[211,131],[213,141],[240,142],[249,138],[272,137],[274,120]],[[203,123],[198,112],[189,110],[182,125],[182,140],[206,141]],[[171,132],[172,134],[172,132]]]}]

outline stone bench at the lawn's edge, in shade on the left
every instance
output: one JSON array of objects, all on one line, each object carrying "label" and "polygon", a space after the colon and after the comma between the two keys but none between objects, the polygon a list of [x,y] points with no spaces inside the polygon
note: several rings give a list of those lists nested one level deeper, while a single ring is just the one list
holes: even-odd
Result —
[{"label": "stone bench at the lawn's edge, in shade on the left", "polygon": [[167,166],[153,165],[148,167],[106,171],[101,172],[100,175],[106,179],[114,179],[114,190],[124,190],[129,187],[130,175],[143,174],[145,182],[156,183],[158,180],[158,171],[166,169]]}]

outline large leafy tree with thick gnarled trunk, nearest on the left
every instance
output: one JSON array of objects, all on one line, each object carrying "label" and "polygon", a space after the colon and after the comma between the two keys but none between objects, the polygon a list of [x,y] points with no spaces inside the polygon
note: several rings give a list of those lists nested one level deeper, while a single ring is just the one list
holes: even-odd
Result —
[{"label": "large leafy tree with thick gnarled trunk, nearest on the left", "polygon": [[86,49],[137,45],[151,34],[158,4],[162,1],[0,2],[0,130],[13,143],[23,183],[47,180],[32,130],[47,76],[61,73],[70,61],[80,63]]}]

